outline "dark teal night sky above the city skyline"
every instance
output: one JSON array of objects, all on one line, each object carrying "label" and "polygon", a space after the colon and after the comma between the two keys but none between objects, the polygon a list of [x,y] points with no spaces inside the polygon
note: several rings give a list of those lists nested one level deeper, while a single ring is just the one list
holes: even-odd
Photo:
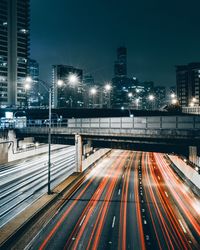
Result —
[{"label": "dark teal night sky above the city skyline", "polygon": [[175,85],[175,65],[200,61],[200,0],[31,0],[31,57],[40,78],[52,64],[111,80],[116,48],[128,75]]}]

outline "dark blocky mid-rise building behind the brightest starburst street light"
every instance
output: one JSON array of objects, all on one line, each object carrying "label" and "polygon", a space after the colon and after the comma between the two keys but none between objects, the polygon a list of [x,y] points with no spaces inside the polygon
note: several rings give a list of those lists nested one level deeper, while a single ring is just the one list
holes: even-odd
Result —
[{"label": "dark blocky mid-rise building behind the brightest starburst street light", "polygon": [[[69,76],[75,75],[77,82],[71,83]],[[63,81],[63,86],[58,86],[58,81]],[[53,65],[52,67],[53,81],[53,106],[61,107],[83,107],[83,70],[68,65]]]}]

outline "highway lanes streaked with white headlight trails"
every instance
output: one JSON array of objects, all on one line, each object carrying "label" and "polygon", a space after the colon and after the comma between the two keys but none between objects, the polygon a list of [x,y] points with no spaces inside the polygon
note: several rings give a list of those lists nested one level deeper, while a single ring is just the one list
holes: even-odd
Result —
[{"label": "highway lanes streaked with white headlight trails", "polygon": [[[52,151],[51,187],[75,171],[75,147]],[[47,192],[47,154],[0,167],[0,227]]]}]

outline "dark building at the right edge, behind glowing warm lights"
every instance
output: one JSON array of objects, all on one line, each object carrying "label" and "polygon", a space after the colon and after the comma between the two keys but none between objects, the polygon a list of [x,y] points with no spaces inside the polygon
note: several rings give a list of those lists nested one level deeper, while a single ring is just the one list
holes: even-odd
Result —
[{"label": "dark building at the right edge, behind glowing warm lights", "polygon": [[181,107],[199,106],[200,63],[176,66],[176,84]]}]

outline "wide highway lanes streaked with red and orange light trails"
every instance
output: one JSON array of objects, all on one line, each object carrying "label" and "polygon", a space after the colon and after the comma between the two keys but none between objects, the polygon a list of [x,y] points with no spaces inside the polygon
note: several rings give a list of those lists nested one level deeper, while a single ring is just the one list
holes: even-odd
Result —
[{"label": "wide highway lanes streaked with red and orange light trails", "polygon": [[163,154],[113,150],[26,249],[200,249],[200,199]]}]

